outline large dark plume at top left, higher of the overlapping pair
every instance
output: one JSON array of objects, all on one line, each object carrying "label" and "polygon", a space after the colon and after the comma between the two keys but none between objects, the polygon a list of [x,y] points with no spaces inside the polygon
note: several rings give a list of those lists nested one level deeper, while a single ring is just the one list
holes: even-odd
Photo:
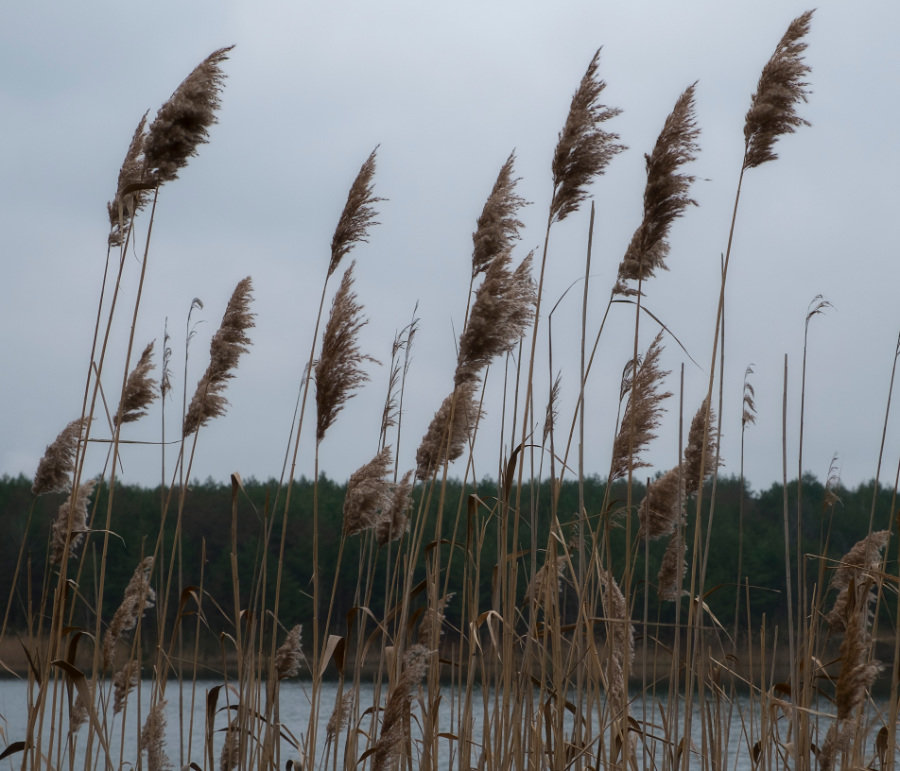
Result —
[{"label": "large dark plume at top left, higher of the overlapping pair", "polygon": [[177,179],[179,170],[197,154],[198,145],[208,141],[225,80],[220,65],[232,48],[207,56],[156,113],[144,140],[145,165],[155,184]]}]

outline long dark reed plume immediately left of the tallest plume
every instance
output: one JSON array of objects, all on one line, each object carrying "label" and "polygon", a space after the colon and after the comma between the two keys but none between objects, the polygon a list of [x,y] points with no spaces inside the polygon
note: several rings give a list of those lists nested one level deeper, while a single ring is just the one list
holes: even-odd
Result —
[{"label": "long dark reed plume immediately left of the tallest plume", "polygon": [[696,85],[691,84],[678,97],[653,152],[645,156],[644,217],[619,264],[616,293],[633,294],[637,290],[628,288],[626,281],[646,281],[657,270],[667,270],[669,228],[688,206],[697,205],[687,195],[694,177],[679,172],[681,166],[694,160],[698,150],[696,139],[700,129],[694,122]]}]

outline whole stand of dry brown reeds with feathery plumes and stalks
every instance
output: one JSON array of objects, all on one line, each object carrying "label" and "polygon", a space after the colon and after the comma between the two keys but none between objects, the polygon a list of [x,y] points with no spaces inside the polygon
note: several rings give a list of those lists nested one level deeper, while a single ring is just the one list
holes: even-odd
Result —
[{"label": "whole stand of dry brown reeds with feathery plumes and stalks", "polygon": [[[790,24],[763,68],[746,115],[735,214],[745,174],[774,161],[779,138],[806,123],[797,109],[807,97],[803,52],[811,18],[806,13]],[[500,167],[473,234],[465,320],[448,393],[435,404],[408,469],[401,467],[395,448],[404,427],[406,389],[413,387],[407,375],[418,320],[413,318],[393,342],[378,450],[350,477],[343,504],[338,564],[350,539],[362,543],[353,613],[336,617],[336,586],[320,569],[317,494],[308,574],[293,577],[308,591],[312,613],[282,618],[280,606],[288,578],[285,535],[296,525],[288,511],[298,458],[314,455],[318,480],[320,446],[348,401],[369,381],[369,365],[375,363],[360,348],[364,306],[354,290],[355,263],[345,264],[377,224],[376,151],[352,183],[323,264],[313,345],[299,383],[281,479],[264,509],[256,511],[261,528],[253,569],[249,574],[239,570],[236,520],[239,503],[245,502],[240,476],[233,474],[233,596],[207,597],[202,582],[182,582],[181,521],[190,496],[185,480],[197,437],[211,420],[225,415],[228,381],[251,346],[251,279],[237,284],[212,338],[209,365],[193,397],[185,392],[174,464],[167,465],[164,449],[173,377],[168,334],[156,380],[152,343],[132,365],[132,332],[118,379],[108,372],[106,341],[123,302],[121,279],[130,267],[125,257],[135,246],[135,222],[149,207],[145,216],[152,224],[162,187],[207,140],[229,50],[207,57],[153,121],[141,118],[109,204],[103,292],[81,415],[47,448],[34,479],[36,496],[65,492],[67,497],[51,528],[44,585],[34,594],[29,625],[22,630],[29,661],[27,730],[11,737],[3,756],[20,756],[23,768],[151,771],[176,765],[223,771],[286,765],[719,769],[739,762],[746,768],[892,768],[900,660],[896,631],[889,708],[873,713],[869,695],[882,668],[874,658],[876,625],[886,615],[890,595],[885,590],[896,590],[898,580],[888,569],[893,521],[876,530],[873,504],[869,533],[861,533],[859,543],[836,563],[826,559],[823,543],[813,579],[808,555],[791,562],[786,502],[787,631],[741,629],[736,621],[729,632],[706,601],[712,592],[724,591],[706,585],[706,561],[721,466],[717,415],[724,395],[721,374],[716,375],[722,367],[730,235],[711,319],[715,334],[708,389],[680,394],[698,405],[683,453],[651,481],[642,499],[633,496],[635,474],[647,466],[643,453],[668,419],[667,400],[673,396],[666,390],[669,373],[662,361],[677,320],[663,326],[645,312],[646,286],[668,268],[672,223],[696,203],[687,169],[700,151],[696,84],[678,96],[646,156],[641,221],[624,250],[590,354],[582,323],[580,368],[571,366],[564,376],[578,393],[574,414],[560,415],[557,399],[561,384],[566,385],[561,378],[548,389],[547,404],[537,403],[551,231],[585,213],[590,185],[625,149],[609,128],[619,110],[603,103],[600,51],[574,93],[552,156],[553,187],[540,255],[515,255],[523,227],[519,211],[526,202],[517,192],[515,156]],[[732,233],[734,227],[732,220]],[[140,309],[151,230],[146,228],[141,249],[132,318]],[[585,304],[591,235],[589,229]],[[339,271],[326,316],[331,279]],[[561,511],[563,478],[573,473],[579,481],[584,478],[584,404],[614,303],[634,310],[633,353],[619,392],[609,397],[618,417],[609,437],[606,499],[599,510],[581,504],[577,511]],[[552,355],[552,335],[547,338]],[[503,370],[507,383],[499,424],[489,416],[493,405],[485,404],[491,368]],[[109,386],[101,387],[110,377],[120,383],[115,411],[106,400]],[[115,498],[121,432],[144,419],[157,399],[163,413],[160,529],[122,549],[115,540],[116,519],[126,515]],[[301,437],[312,404],[315,441],[307,447]],[[749,380],[743,408],[742,431],[755,416]],[[496,489],[492,495],[483,487],[476,490],[474,465],[467,463],[464,492],[451,500],[449,464],[471,460],[479,433],[493,430],[512,448],[498,459]],[[576,432],[577,459],[570,456]],[[109,448],[106,464],[94,476],[85,464],[90,441]],[[536,455],[549,459],[549,500],[540,498],[544,465]],[[102,508],[91,503],[101,483],[108,490]],[[613,483],[624,490],[623,499],[613,495]],[[828,500],[836,505],[833,495]],[[798,530],[800,517],[798,501]],[[167,527],[174,532],[171,539],[164,537]],[[488,529],[498,533],[496,554],[481,549]],[[546,538],[539,541],[539,532]],[[665,539],[664,547],[657,546],[659,539]],[[656,576],[647,569],[651,554],[660,566]],[[637,569],[640,557],[643,574]],[[118,610],[104,617],[104,577],[113,569],[121,573],[126,558],[134,563],[131,581]],[[737,559],[736,619],[739,607],[748,610],[754,582],[752,575],[742,574]],[[385,566],[383,572],[376,564]],[[88,570],[97,577],[93,596],[79,590]],[[485,585],[489,599],[481,591]],[[643,612],[636,602],[639,587]],[[31,598],[32,587],[27,589]],[[667,619],[673,620],[661,623],[649,616],[650,591],[672,608]],[[9,602],[20,595],[21,587],[13,586]],[[383,613],[372,611],[376,605]],[[447,621],[451,606],[460,619],[453,628]],[[217,637],[209,622],[213,608],[227,620]],[[87,625],[78,621],[85,618],[91,620]],[[10,633],[4,620],[0,634]],[[222,652],[221,679],[212,684],[198,678],[204,635],[216,637]],[[772,640],[784,645],[785,639],[789,676],[776,681],[767,646]],[[297,677],[305,682],[302,691],[288,690],[287,681]],[[335,677],[336,695],[326,702],[323,683]],[[635,683],[639,692],[633,690]],[[738,694],[749,701],[739,701]],[[287,717],[287,707],[298,699],[304,717],[296,722]],[[205,709],[205,718],[196,723],[195,702]],[[684,709],[685,702],[698,711]],[[178,712],[167,710],[175,703],[181,705]],[[129,714],[137,719],[127,722]],[[180,715],[177,727],[167,725],[172,714]],[[129,743],[125,735],[132,730],[136,736]]]}]

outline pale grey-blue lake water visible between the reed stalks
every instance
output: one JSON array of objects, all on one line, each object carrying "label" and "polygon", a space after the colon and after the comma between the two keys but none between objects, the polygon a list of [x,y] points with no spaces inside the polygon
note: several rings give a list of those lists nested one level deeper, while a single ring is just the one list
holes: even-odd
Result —
[{"label": "pale grey-blue lake water visible between the reed stalks", "polygon": [[[203,746],[203,736],[205,732],[206,721],[206,694],[209,689],[212,689],[217,685],[221,685],[221,683],[198,683],[193,713],[191,713],[190,687],[185,687],[182,695],[182,700],[180,701],[178,699],[176,690],[177,685],[172,683],[169,684],[167,690],[167,731],[165,750],[175,768],[181,768],[191,761],[195,762],[201,768],[207,768],[209,766],[209,763],[206,761],[204,755]],[[64,694],[65,689],[61,688],[60,692]],[[439,729],[440,731],[445,733],[454,733],[456,731],[456,726],[454,725],[453,720],[453,710],[455,706],[452,704],[452,693],[449,689],[445,689],[442,691],[442,695],[443,698],[441,701],[440,715],[438,718]],[[226,689],[220,689],[218,692],[218,696],[219,698],[214,724],[214,755],[216,766],[219,763],[220,753],[225,741],[225,727],[227,726],[229,713],[231,712],[227,704],[228,699]],[[335,704],[337,696],[337,685],[335,683],[323,684],[321,689],[321,707],[319,710],[319,720],[317,728],[319,736],[317,744],[320,748],[320,753],[323,752],[325,747],[326,725],[328,723],[328,719],[331,715],[332,708]],[[385,697],[386,694],[382,693],[382,703],[384,702]],[[282,768],[289,758],[296,759],[299,755],[299,753],[294,749],[292,745],[299,738],[301,738],[308,729],[309,699],[310,691],[308,683],[303,683],[300,681],[286,681],[281,684],[279,709],[281,723],[285,727],[284,738],[281,744]],[[373,703],[373,700],[374,692],[372,687],[363,686],[360,693],[359,712],[363,713],[366,708]],[[662,697],[662,700],[664,701],[664,697]],[[231,701],[233,704],[233,697]],[[113,717],[112,709],[106,711],[106,719],[109,721],[110,726],[109,734],[112,737],[110,740],[110,757],[112,758],[113,765],[115,767],[121,767],[123,765],[125,767],[131,767],[136,764],[138,754],[136,741],[136,715],[139,702],[143,714],[146,714],[146,710],[150,704],[149,682],[142,683],[140,693],[133,692],[131,694],[128,703],[126,720],[124,721],[124,730],[121,720],[121,714]],[[477,717],[482,714],[484,705],[483,695],[480,691],[476,691],[473,694],[472,702],[476,714],[476,724],[473,726],[472,740],[473,742],[480,745],[480,742],[482,741],[483,726],[480,722],[477,721]],[[681,708],[682,716],[679,720],[679,728],[683,726],[683,705],[681,705]],[[724,705],[723,711],[727,712],[727,709],[728,706]],[[420,718],[422,714],[422,706],[420,705],[418,700],[414,700],[412,710],[414,733],[413,741],[415,743],[415,740],[417,738],[416,731],[419,730],[419,727],[421,725]],[[727,729],[729,739],[727,742],[727,748],[725,749],[723,755],[723,760],[725,762],[725,768],[727,771],[752,771],[753,763],[750,758],[749,748],[752,747],[755,740],[759,737],[760,715],[758,714],[758,712],[758,707],[751,704],[751,702],[746,698],[739,698],[734,703],[731,715],[730,729]],[[65,711],[64,714],[66,716],[64,725],[68,725],[68,712]],[[566,715],[569,721],[568,726],[570,727],[572,725],[572,717],[568,712],[566,712]],[[644,703],[640,699],[640,696],[635,696],[631,703],[631,715],[639,723],[646,726],[645,735],[663,739],[664,728],[661,725],[661,715],[659,706],[657,704],[648,703],[645,707]],[[357,725],[360,730],[370,730],[371,716],[372,712],[370,711],[369,713],[364,714],[363,717],[359,720],[359,723]],[[191,725],[191,717],[193,717],[193,736],[189,737],[188,733]],[[779,737],[779,740],[781,742],[786,743],[789,740],[789,737],[786,736],[786,716],[782,713],[781,710],[776,709],[772,713],[772,717],[775,720],[775,722],[773,723],[773,731],[775,732],[776,736]],[[8,746],[9,744],[24,739],[26,732],[26,719],[26,684],[22,681],[17,680],[0,681],[0,751],[2,751],[2,748]],[[101,714],[98,719],[103,720],[103,715]],[[869,719],[873,721],[872,725],[874,725],[874,728],[872,728],[868,732],[870,740],[869,745],[872,745],[879,725],[878,722],[875,722],[878,720],[878,705],[873,705],[872,710],[870,710]],[[692,717],[692,734],[695,748],[703,746],[703,737],[701,734],[702,726],[703,721],[701,719],[700,712],[695,707]],[[824,733],[827,730],[827,726],[827,719],[825,720],[825,722],[820,724],[820,738],[817,740],[819,743],[821,743],[824,738]],[[721,731],[722,735],[725,734],[726,726],[724,723],[719,730]],[[421,734],[419,733],[419,736],[420,735]],[[44,741],[49,741],[49,730],[46,726],[44,729],[44,736]],[[82,727],[76,738],[76,768],[83,767],[85,736],[86,727]],[[643,751],[644,745],[638,738],[639,734],[633,733],[632,736],[637,740],[638,763],[640,764],[641,753]],[[338,741],[338,745],[337,767],[341,768],[343,767],[343,739]],[[646,746],[648,747],[648,751],[661,753],[663,751],[663,748],[666,746],[666,742],[664,740],[655,742],[651,740],[646,743]],[[365,737],[360,737],[360,748],[356,752],[357,756],[362,754],[364,749]],[[439,768],[458,767],[459,759],[456,754],[458,752],[458,743],[455,740],[447,737],[439,739],[438,752]],[[473,765],[477,765],[479,754],[480,751],[478,749],[473,750],[471,758]],[[872,746],[867,746],[866,761],[868,762],[872,760],[874,754],[874,748]],[[3,771],[3,769],[18,769],[21,764],[21,759],[21,754],[16,753],[14,755],[11,755],[9,758],[0,761],[0,771]],[[317,758],[320,765],[322,759],[322,755],[320,754]],[[659,760],[660,757],[658,755],[657,762],[659,762]],[[68,761],[68,758],[66,758],[66,761]],[[331,767],[332,761],[333,758],[329,758],[329,767]],[[777,757],[773,757],[773,762],[778,766],[783,765]],[[65,762],[62,765],[67,766],[68,763]],[[356,763],[353,762],[349,765],[350,767],[355,767]],[[703,763],[699,762],[699,760],[692,760],[692,767],[701,768],[702,766]],[[99,764],[98,767],[102,768],[102,764]]]}]

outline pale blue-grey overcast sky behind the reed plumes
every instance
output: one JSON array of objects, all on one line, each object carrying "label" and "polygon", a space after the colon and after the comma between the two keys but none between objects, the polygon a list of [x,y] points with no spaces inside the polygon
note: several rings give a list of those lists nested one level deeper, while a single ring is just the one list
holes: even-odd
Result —
[{"label": "pale blue-grey overcast sky behind the reed plumes", "polygon": [[[379,224],[348,259],[356,260],[355,290],[368,320],[360,348],[381,365],[367,365],[370,381],[321,443],[319,469],[344,481],[377,451],[391,343],[415,314],[401,433],[391,438],[400,472],[414,466],[419,441],[451,389],[471,235],[485,198],[515,150],[517,192],[531,202],[521,213],[515,256],[540,254],[557,135],[600,47],[603,101],[622,110],[606,127],[628,150],[590,188],[591,342],[641,219],[643,154],[679,94],[697,81],[700,152],[686,170],[696,176],[691,194],[698,205],[670,232],[669,270],[645,287],[647,307],[677,338],[665,338],[662,365],[671,371],[666,388],[673,396],[640,473],[665,471],[678,459],[679,414],[686,426],[708,382],[744,115],[762,66],[807,9],[794,0],[10,6],[0,28],[0,474],[33,475],[46,445],[80,414],[105,264],[106,203],[140,116],[149,110],[152,119],[195,65],[232,44],[210,141],[160,192],[135,325],[138,352],[154,339],[158,352],[165,328],[171,336],[171,439],[182,389],[193,392],[231,291],[252,277],[252,347],[228,386],[228,414],[200,431],[192,478],[282,473],[332,233],[376,146]],[[834,464],[848,486],[879,471],[900,332],[898,29],[894,2],[821,4],[807,38],[811,94],[800,108],[812,125],[780,139],[778,160],[744,179],[726,289],[721,454],[723,473],[739,473],[743,384],[752,365],[758,412],[743,457],[754,489],[779,482],[783,464],[789,478],[802,462],[821,480]],[[537,403],[546,403],[558,371],[557,425],[565,432],[578,391],[588,222],[586,204],[551,231],[538,333]],[[141,239],[147,223],[146,216],[137,222]],[[140,254],[130,253],[104,370],[110,409],[140,268]],[[336,287],[329,285],[329,297]],[[805,319],[818,295],[831,307],[809,322],[801,390]],[[189,330],[194,298],[203,308]],[[644,316],[641,348],[656,331]],[[615,307],[586,392],[589,474],[607,474],[633,335],[633,308]],[[503,380],[499,361],[488,374],[475,448],[479,479],[494,476],[510,449]],[[298,476],[315,473],[314,422],[307,415]],[[176,451],[167,450],[163,470],[161,426],[157,403],[126,427],[119,478],[152,485],[171,475]],[[898,433],[894,410],[880,469],[889,485],[900,459]],[[92,435],[110,435],[103,420]],[[92,445],[86,475],[99,473],[104,458],[104,446]],[[569,460],[575,463],[575,450]],[[543,473],[548,466],[545,456]],[[451,474],[464,470],[458,462]]]}]

